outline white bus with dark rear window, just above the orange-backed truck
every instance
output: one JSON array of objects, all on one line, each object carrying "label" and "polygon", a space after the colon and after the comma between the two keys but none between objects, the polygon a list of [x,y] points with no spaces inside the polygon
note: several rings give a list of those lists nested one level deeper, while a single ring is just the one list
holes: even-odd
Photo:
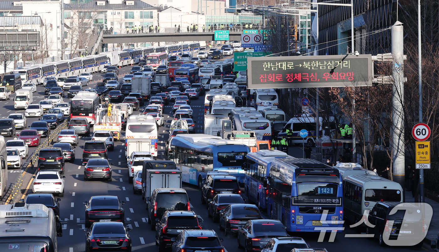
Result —
[{"label": "white bus with dark rear window, just above the orange-backed truck", "polygon": [[271,122],[262,116],[239,112],[230,119],[233,130],[253,130],[257,140],[271,140]]}]

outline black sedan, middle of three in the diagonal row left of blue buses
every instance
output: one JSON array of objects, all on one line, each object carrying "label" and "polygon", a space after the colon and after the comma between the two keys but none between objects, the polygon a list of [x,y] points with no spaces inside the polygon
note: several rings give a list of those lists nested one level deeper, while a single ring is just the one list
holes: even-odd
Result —
[{"label": "black sedan, middle of three in the diagonal row left of blue buses", "polygon": [[219,213],[219,230],[224,230],[224,235],[237,232],[249,220],[262,219],[258,207],[252,204],[229,205]]}]

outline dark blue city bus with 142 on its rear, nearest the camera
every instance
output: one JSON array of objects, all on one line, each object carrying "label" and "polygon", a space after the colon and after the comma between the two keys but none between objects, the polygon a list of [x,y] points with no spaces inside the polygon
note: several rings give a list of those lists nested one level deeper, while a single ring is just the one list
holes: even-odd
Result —
[{"label": "dark blue city bus with 142 on its rear, nearest the camera", "polygon": [[342,189],[336,167],[309,158],[277,158],[268,176],[267,212],[290,232],[342,232]]}]

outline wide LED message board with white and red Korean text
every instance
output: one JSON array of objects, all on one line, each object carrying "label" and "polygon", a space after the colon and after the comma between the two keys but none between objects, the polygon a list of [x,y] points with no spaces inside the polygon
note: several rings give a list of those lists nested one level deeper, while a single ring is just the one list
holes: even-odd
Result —
[{"label": "wide LED message board with white and red Korean text", "polygon": [[247,88],[372,85],[370,54],[247,58],[247,66]]}]

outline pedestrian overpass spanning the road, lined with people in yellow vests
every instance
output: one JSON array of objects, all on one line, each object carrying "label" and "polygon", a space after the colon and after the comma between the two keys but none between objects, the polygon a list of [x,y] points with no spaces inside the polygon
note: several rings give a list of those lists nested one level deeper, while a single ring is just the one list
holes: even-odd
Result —
[{"label": "pedestrian overpass spanning the road, lined with people in yellow vests", "polygon": [[[242,31],[229,31],[229,40],[241,41],[241,34]],[[100,44],[213,41],[214,35],[214,31],[104,34]]]}]

